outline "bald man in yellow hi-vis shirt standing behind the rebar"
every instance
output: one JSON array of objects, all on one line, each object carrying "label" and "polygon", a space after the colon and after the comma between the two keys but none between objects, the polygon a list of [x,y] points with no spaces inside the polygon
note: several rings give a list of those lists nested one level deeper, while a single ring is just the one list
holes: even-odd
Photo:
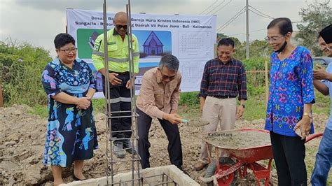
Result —
[{"label": "bald man in yellow hi-vis shirt standing behind the rebar", "polygon": [[[130,89],[134,87],[130,83],[129,73],[129,50],[127,36],[127,14],[118,12],[114,16],[114,28],[107,31],[107,48],[109,55],[109,87],[111,112],[114,118],[111,119],[113,138],[130,138],[132,126]],[[134,73],[139,71],[139,43],[137,37],[132,34],[132,49],[134,58]],[[103,92],[105,94],[106,69],[104,67],[104,34],[98,36],[95,41],[95,48],[92,52],[92,62],[95,69],[102,73]],[[113,113],[116,111],[127,111],[124,113]],[[122,117],[117,117],[122,116]],[[127,116],[127,117],[123,117]],[[128,130],[128,131],[127,131]],[[119,131],[119,132],[114,132]],[[125,131],[125,132],[123,132]],[[113,152],[116,157],[124,158],[125,150],[136,154],[129,139],[113,141]]]}]

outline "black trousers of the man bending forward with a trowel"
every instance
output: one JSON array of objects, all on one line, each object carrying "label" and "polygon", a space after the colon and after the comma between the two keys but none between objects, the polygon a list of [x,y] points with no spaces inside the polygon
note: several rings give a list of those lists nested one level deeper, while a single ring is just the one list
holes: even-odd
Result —
[{"label": "black trousers of the man bending forward with a trowel", "polygon": [[[150,162],[148,159],[150,158],[150,152],[148,152],[148,148],[150,148],[151,144],[148,142],[148,130],[151,127],[152,118],[148,116],[143,111],[137,108],[137,114],[139,114],[137,120],[137,128],[139,135],[139,144],[138,151],[139,156],[141,157],[141,167],[146,169],[150,167]],[[172,124],[167,120],[160,120],[162,129],[164,129],[167,139],[168,139],[168,155],[170,155],[170,161],[175,166],[181,168],[182,166],[182,148],[181,148],[181,140],[179,127],[177,124]],[[160,152],[162,153],[162,152]]]}]

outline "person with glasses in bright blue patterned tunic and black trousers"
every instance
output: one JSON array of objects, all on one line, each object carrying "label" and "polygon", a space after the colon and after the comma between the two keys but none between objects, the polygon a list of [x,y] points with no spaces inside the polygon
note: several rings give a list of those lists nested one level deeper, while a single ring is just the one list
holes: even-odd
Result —
[{"label": "person with glasses in bright blue patterned tunic and black trousers", "polygon": [[314,132],[312,57],[307,48],[291,44],[292,32],[286,17],[268,25],[265,39],[275,52],[270,57],[265,129],[270,131],[279,185],[307,185],[304,138]]}]

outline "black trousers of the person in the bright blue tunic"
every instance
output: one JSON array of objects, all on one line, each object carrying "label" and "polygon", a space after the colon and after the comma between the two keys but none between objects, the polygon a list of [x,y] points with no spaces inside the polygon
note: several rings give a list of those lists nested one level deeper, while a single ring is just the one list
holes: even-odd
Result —
[{"label": "black trousers of the person in the bright blue tunic", "polygon": [[300,137],[283,136],[270,131],[278,185],[307,185],[305,141]]}]

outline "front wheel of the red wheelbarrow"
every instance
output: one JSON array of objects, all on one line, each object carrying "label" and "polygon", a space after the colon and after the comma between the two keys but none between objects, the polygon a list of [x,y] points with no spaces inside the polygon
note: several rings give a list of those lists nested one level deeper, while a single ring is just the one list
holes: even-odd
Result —
[{"label": "front wheel of the red wheelbarrow", "polygon": [[[221,170],[227,170],[230,169],[231,166],[235,164],[235,162],[230,159],[229,157],[220,157],[219,158],[219,164]],[[214,176],[219,170],[216,170],[216,159],[214,159],[209,166],[207,166],[207,172],[205,174],[205,178],[209,178],[211,176]],[[237,180],[237,171],[230,173],[228,176],[225,176],[223,178],[220,178],[218,180],[218,185],[235,185],[235,182]],[[213,182],[207,183],[208,186],[213,186]]]}]

